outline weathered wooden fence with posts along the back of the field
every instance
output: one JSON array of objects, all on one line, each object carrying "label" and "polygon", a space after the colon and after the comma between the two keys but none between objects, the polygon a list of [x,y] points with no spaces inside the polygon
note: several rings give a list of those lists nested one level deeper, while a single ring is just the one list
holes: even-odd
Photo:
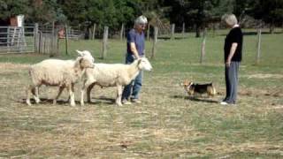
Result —
[{"label": "weathered wooden fence with posts along the back of the field", "polygon": [[[186,36],[186,27],[185,23],[182,24],[182,27],[175,27],[175,24],[171,25],[171,30],[164,32],[159,31],[158,27],[148,27],[146,36],[148,40],[152,40],[152,49],[151,56],[152,58],[156,57],[157,54],[157,41],[159,38],[162,39],[185,39]],[[176,29],[177,28],[177,29]],[[152,30],[153,29],[153,30]],[[122,41],[126,38],[126,27],[124,24],[121,25],[119,30],[119,39]],[[176,37],[175,31],[177,30],[178,37]],[[88,39],[95,40],[96,32],[98,31],[97,25],[94,24],[93,27],[88,29]],[[109,27],[103,27],[103,50],[102,58],[107,57],[107,44],[109,39],[109,33],[111,29]],[[152,38],[149,38],[150,33]],[[162,34],[163,33],[163,34]],[[164,35],[164,33],[167,33]],[[9,54],[9,53],[41,53],[57,55],[59,53],[59,40],[65,39],[65,54],[68,54],[68,40],[69,39],[83,39],[85,32],[73,29],[73,27],[68,26],[59,26],[55,27],[54,23],[52,26],[43,26],[39,27],[38,24],[35,24],[33,27],[0,27],[0,54]],[[99,33],[100,34],[100,33]],[[181,34],[181,36],[180,36]],[[256,42],[256,60],[255,63],[259,64],[260,62],[260,53],[261,53],[261,41],[262,41],[262,29],[257,29],[257,42]],[[186,34],[187,35],[187,34]],[[165,38],[164,38],[165,36]],[[205,57],[205,44],[206,44],[207,28],[203,31],[203,41],[200,44],[200,63],[202,64]]]}]

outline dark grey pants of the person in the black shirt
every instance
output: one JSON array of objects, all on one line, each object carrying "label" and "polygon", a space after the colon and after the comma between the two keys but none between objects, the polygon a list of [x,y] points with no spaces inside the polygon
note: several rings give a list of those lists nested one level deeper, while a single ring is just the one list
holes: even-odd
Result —
[{"label": "dark grey pants of the person in the black shirt", "polygon": [[225,67],[226,97],[223,100],[224,102],[236,102],[239,65],[240,62],[232,61],[229,67]]}]

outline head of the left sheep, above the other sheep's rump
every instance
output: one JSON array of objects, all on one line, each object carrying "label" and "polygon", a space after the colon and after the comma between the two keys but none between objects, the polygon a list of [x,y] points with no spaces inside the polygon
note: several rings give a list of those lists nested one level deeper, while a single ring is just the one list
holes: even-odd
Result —
[{"label": "head of the left sheep, above the other sheep's rump", "polygon": [[95,58],[92,57],[91,53],[88,50],[76,50],[79,54],[80,58],[80,67],[81,68],[93,68],[94,67],[94,62],[95,62]]}]

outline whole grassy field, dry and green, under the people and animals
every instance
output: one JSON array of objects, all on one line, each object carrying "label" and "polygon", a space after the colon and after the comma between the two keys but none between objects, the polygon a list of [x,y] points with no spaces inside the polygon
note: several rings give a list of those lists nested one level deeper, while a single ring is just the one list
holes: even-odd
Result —
[{"label": "whole grassy field, dry and green, under the people and animals", "polygon": [[[202,39],[157,43],[145,72],[142,104],[117,107],[116,89],[95,87],[92,103],[76,107],[64,92],[57,105],[54,87],[42,87],[42,103],[27,106],[25,87],[30,64],[47,55],[0,56],[0,158],[282,158],[283,157],[283,34],[263,34],[260,64],[255,65],[256,34],[245,30],[243,62],[236,106],[218,103],[225,95],[223,42],[227,31]],[[248,34],[249,32],[249,34]],[[64,42],[59,58],[75,57],[75,49],[93,52],[96,62],[124,63],[126,42],[111,40],[106,59],[100,41]],[[151,42],[146,43],[148,57]],[[218,95],[188,98],[180,82],[213,81]]]}]

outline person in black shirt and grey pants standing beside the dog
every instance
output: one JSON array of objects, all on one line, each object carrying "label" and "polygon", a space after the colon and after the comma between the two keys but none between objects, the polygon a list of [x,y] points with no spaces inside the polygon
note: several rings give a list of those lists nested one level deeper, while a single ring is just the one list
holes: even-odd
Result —
[{"label": "person in black shirt and grey pants standing beside the dog", "polygon": [[237,99],[238,72],[241,63],[242,32],[238,20],[233,14],[226,14],[222,17],[226,26],[230,27],[226,35],[224,46],[226,97],[220,104],[235,104]]}]

